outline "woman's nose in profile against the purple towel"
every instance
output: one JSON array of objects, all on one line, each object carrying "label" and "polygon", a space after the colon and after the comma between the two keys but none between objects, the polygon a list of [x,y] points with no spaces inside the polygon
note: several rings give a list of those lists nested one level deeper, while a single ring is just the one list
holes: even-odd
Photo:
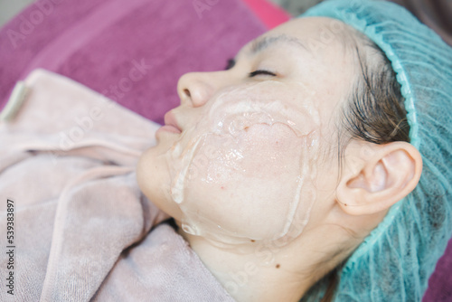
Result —
[{"label": "woman's nose in profile against the purple towel", "polygon": [[184,74],[177,83],[177,93],[181,104],[193,107],[204,105],[212,94],[220,89],[215,83],[217,72],[190,72]]}]

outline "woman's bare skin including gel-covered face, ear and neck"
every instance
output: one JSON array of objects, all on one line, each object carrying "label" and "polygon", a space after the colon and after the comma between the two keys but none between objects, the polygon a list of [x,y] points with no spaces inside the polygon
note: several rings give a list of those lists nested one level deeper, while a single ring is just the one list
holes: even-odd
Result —
[{"label": "woman's bare skin including gel-covered face, ear and neck", "polygon": [[297,301],[418,184],[421,158],[404,142],[351,141],[339,169],[337,118],[360,76],[346,31],[292,20],[245,45],[230,70],[185,74],[181,105],[138,163],[142,191],[238,301]]}]

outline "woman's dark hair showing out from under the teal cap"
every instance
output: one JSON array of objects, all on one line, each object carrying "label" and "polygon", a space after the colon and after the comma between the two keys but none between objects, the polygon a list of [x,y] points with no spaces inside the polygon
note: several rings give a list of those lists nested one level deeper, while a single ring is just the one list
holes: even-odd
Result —
[{"label": "woman's dark hair showing out from under the teal cap", "polygon": [[[395,141],[410,142],[407,111],[391,61],[363,33],[353,30],[350,36],[353,36],[353,51],[359,61],[360,76],[354,81],[349,97],[336,117],[339,165],[344,146],[352,139],[378,145]],[[334,300],[335,288],[345,262],[346,259],[310,289],[315,290],[316,286],[327,284],[321,302]]]}]

